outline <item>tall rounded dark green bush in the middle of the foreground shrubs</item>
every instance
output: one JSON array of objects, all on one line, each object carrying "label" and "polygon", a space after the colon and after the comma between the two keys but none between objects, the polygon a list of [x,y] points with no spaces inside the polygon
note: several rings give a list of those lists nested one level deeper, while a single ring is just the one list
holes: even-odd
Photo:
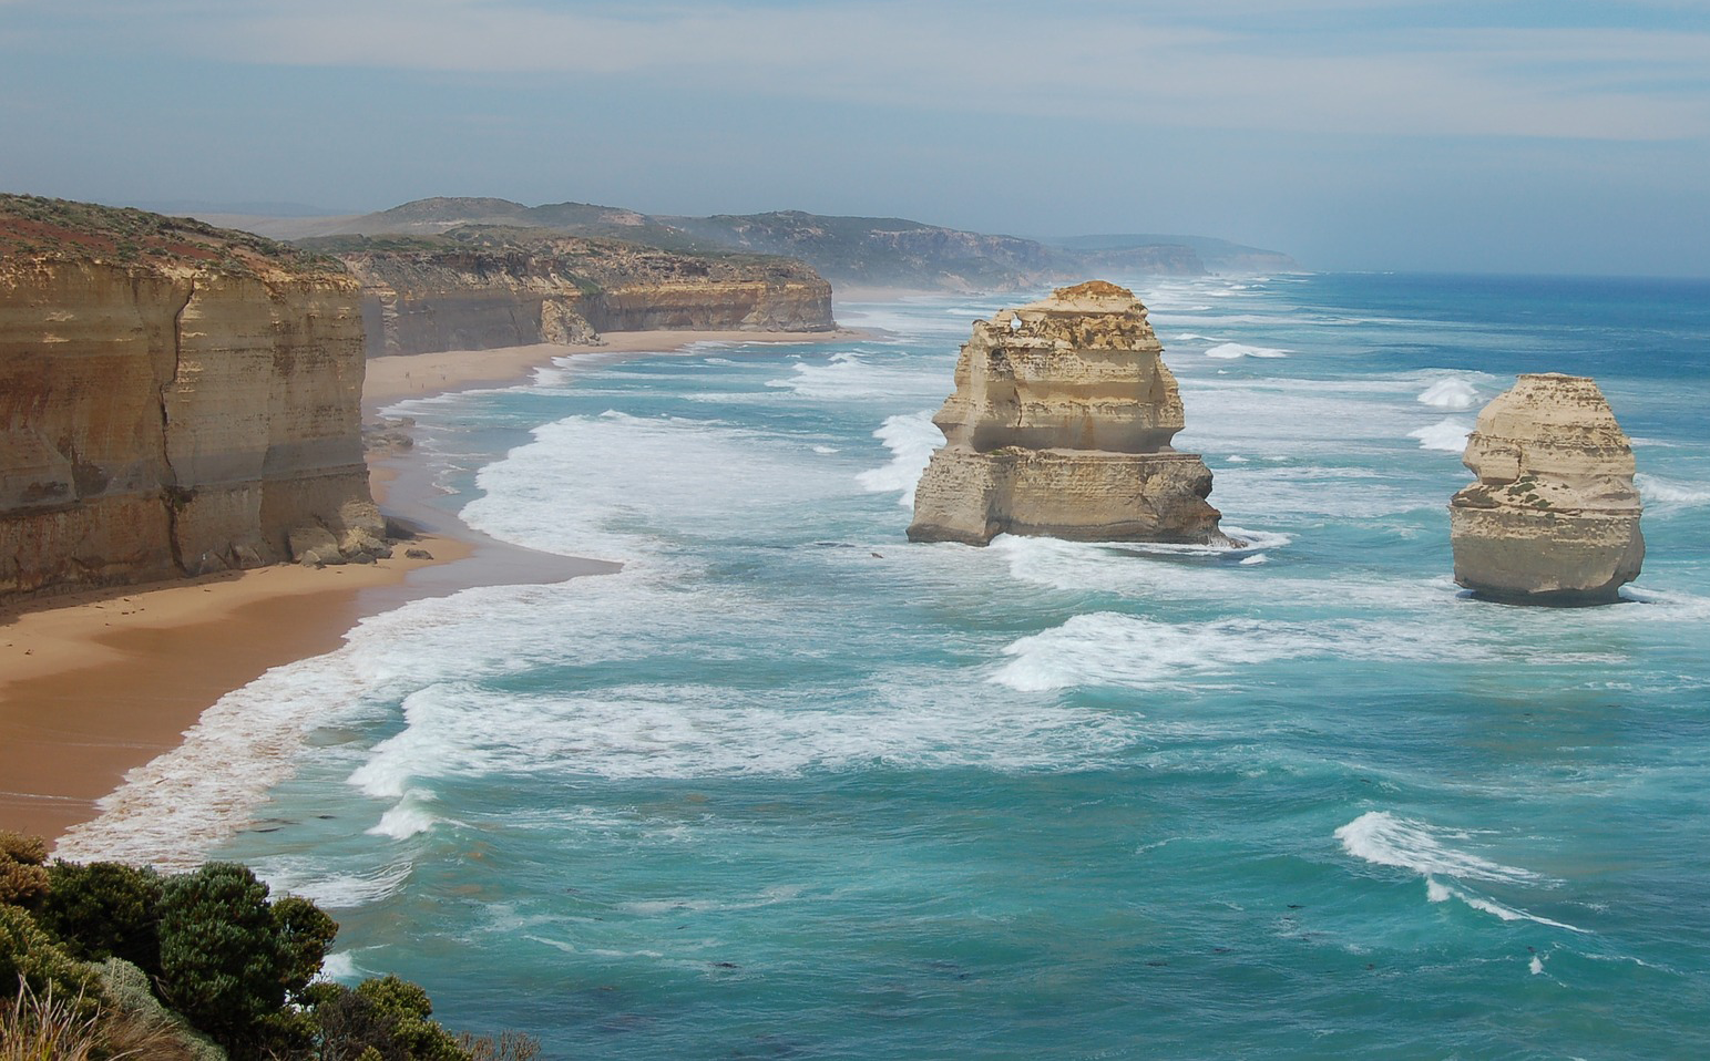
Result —
[{"label": "tall rounded dark green bush in the middle of the foreground shrubs", "polygon": [[209,863],[161,894],[161,996],[234,1058],[256,1056],[286,1005],[279,926],[248,866]]}]

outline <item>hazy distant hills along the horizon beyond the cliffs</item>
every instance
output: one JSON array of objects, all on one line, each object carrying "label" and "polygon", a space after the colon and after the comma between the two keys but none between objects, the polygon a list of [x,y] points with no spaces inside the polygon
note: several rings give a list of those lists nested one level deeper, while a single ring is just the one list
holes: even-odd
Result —
[{"label": "hazy distant hills along the horizon beyond the cliffs", "polygon": [[[222,217],[231,224],[233,219]],[[622,207],[503,198],[422,198],[359,217],[274,219],[253,231],[310,236],[439,236],[470,226],[602,236],[679,253],[783,255],[840,287],[1012,290],[1091,273],[1204,275],[1298,270],[1288,255],[1206,236],[1076,236],[1023,239],[947,229],[906,217],[836,217],[776,210],[713,217],[648,215]]]}]

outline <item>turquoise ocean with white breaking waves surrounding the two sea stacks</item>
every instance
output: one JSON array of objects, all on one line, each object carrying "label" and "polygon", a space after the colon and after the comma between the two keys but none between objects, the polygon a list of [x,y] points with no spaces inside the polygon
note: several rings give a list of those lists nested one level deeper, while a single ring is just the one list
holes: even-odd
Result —
[{"label": "turquoise ocean with white breaking waves surrounding the two sea stacks", "polygon": [[[1247,548],[905,540],[1043,292],[561,362],[395,412],[446,513],[624,569],[364,620],[80,844],[246,861],[549,1058],[1710,1054],[1710,284],[1132,285]],[[1619,605],[1450,579],[1534,371],[1633,436]]]}]

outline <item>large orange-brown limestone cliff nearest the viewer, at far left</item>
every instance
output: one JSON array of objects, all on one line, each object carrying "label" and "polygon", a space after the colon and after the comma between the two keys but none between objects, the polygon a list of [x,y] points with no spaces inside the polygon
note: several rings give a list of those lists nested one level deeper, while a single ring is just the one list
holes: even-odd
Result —
[{"label": "large orange-brown limestone cliff nearest the viewer, at far left", "polygon": [[0,596],[380,547],[337,261],[0,195]]}]

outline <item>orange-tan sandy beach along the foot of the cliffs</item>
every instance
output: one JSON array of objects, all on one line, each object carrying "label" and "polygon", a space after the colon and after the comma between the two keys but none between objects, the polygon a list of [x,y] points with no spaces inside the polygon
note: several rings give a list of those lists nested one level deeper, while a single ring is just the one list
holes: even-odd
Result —
[{"label": "orange-tan sandy beach along the foot of the cliffs", "polygon": [[[530,345],[378,357],[363,417],[405,398],[508,386],[569,355],[674,352],[699,342],[843,342],[855,331],[633,331],[600,345]],[[422,504],[431,468],[409,449],[369,456],[374,499],[421,528],[431,560],[238,574],[31,601],[0,612],[0,829],[58,837],[178,745],[221,695],[268,668],[328,653],[364,615],[475,584],[540,583],[610,564],[532,554]]]}]

